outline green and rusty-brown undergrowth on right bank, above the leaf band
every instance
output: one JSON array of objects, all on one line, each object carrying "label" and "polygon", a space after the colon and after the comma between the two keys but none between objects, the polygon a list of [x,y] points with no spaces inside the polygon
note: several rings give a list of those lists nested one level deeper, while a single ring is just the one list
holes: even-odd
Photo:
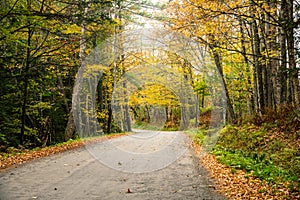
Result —
[{"label": "green and rusty-brown undergrowth on right bank, above the leaf band", "polygon": [[212,153],[234,169],[242,169],[273,185],[300,191],[300,113],[292,107],[266,110],[222,129]]}]

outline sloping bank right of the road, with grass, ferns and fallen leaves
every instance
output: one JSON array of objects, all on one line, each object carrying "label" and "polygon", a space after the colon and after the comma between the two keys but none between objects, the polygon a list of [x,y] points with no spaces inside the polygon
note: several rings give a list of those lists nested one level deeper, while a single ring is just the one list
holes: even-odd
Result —
[{"label": "sloping bank right of the road, with grass, ferns and fallen leaves", "polygon": [[[210,153],[204,141],[211,118],[189,132],[200,162],[229,199],[300,199],[300,113],[267,111],[226,125]],[[209,139],[208,139],[209,140]]]}]

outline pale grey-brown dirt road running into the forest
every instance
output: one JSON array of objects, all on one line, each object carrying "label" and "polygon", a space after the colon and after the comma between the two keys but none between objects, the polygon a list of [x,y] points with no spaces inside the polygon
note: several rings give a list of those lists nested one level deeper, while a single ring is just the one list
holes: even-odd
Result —
[{"label": "pale grey-brown dirt road running into the forest", "polygon": [[39,159],[0,174],[0,200],[225,199],[181,132],[136,134]]}]

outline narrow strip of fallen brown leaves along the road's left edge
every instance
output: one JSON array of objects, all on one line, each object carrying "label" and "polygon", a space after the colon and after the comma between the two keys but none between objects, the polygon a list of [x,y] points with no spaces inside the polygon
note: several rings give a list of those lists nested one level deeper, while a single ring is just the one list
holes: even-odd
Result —
[{"label": "narrow strip of fallen brown leaves along the road's left edge", "polygon": [[22,164],[22,163],[25,163],[25,162],[28,162],[31,160],[43,158],[43,157],[57,154],[60,152],[80,148],[87,144],[97,143],[97,142],[101,142],[101,141],[104,141],[107,139],[116,138],[116,137],[120,137],[120,136],[124,136],[124,135],[127,135],[127,134],[112,134],[112,135],[92,138],[92,139],[84,140],[84,141],[76,140],[76,141],[73,141],[70,143],[45,147],[45,148],[35,150],[35,151],[25,150],[25,151],[22,151],[21,153],[15,154],[15,155],[0,154],[0,172],[6,168],[9,168],[9,167],[12,167],[12,166],[15,166],[18,164]]}]

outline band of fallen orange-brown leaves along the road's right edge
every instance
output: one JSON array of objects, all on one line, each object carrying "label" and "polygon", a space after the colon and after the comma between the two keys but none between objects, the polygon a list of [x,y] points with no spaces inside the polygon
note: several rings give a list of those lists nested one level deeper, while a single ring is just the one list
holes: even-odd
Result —
[{"label": "band of fallen orange-brown leaves along the road's right edge", "polygon": [[214,179],[217,190],[229,199],[300,199],[299,194],[289,192],[287,185],[272,187],[242,170],[234,169],[233,172],[232,168],[219,163],[214,155],[204,154],[200,145],[193,143],[193,147],[200,162]]}]

